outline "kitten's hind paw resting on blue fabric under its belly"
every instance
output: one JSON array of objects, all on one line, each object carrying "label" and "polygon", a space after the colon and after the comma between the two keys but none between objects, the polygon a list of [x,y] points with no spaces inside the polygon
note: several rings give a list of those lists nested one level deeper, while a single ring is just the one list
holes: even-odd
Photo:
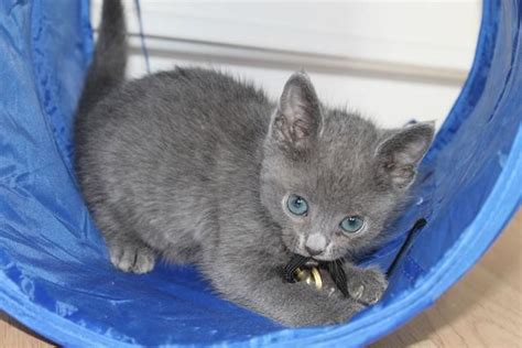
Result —
[{"label": "kitten's hind paw resting on blue fabric under its belly", "polygon": [[110,262],[123,271],[137,274],[152,271],[155,264],[154,252],[143,244],[119,244],[109,249]]}]

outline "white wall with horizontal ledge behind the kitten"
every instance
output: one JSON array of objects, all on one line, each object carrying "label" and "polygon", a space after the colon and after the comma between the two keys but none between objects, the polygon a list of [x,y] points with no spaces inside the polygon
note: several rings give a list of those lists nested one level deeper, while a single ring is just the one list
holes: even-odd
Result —
[{"label": "white wall with horizontal ledge behind the kitten", "polygon": [[[95,23],[99,0],[93,1]],[[129,32],[138,33],[127,0]],[[181,1],[142,0],[152,70],[219,67],[276,98],[304,67],[324,101],[383,126],[446,117],[472,62],[479,0]],[[131,40],[130,77],[145,74]]]}]

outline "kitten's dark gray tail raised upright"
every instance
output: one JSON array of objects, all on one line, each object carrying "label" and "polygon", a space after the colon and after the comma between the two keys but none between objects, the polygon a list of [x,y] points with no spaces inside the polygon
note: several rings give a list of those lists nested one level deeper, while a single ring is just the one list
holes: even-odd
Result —
[{"label": "kitten's dark gray tail raised upright", "polygon": [[98,42],[78,104],[86,115],[109,90],[124,79],[127,66],[127,26],[121,0],[104,0]]}]

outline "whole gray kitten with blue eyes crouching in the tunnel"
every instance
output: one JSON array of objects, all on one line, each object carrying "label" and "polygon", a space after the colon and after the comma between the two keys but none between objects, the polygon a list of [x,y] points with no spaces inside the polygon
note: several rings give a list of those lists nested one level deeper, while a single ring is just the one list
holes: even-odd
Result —
[{"label": "whole gray kitten with blue eyes crouching in the tunnel", "polygon": [[110,260],[145,273],[194,263],[224,297],[287,326],[341,323],[380,298],[381,271],[347,263],[350,297],[285,283],[293,253],[335,260],[373,246],[406,199],[433,126],[382,130],[318,100],[305,73],[278,102],[214,70],[123,81],[119,1],[76,122],[76,165]]}]

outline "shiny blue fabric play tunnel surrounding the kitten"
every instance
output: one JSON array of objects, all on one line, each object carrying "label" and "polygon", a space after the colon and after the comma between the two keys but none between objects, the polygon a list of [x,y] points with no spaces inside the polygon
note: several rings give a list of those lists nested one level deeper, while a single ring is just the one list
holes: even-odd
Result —
[{"label": "shiny blue fabric play tunnel surrounding the kitten", "polygon": [[487,250],[522,187],[522,0],[486,1],[476,59],[422,166],[383,301],[347,325],[285,329],[215,296],[192,268],[117,272],[72,171],[72,120],[93,52],[88,1],[0,1],[0,308],[65,346],[360,346],[431,305]]}]

